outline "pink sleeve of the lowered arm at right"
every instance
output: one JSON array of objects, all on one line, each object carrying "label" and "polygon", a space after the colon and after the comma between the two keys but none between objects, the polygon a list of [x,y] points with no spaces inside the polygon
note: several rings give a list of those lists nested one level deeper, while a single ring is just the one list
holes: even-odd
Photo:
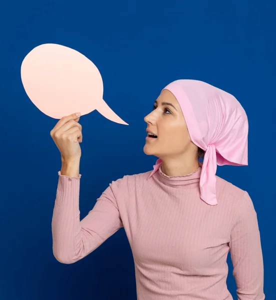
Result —
[{"label": "pink sleeve of the lowered arm at right", "polygon": [[230,255],[238,300],[263,300],[263,258],[257,215],[244,191],[235,208]]}]

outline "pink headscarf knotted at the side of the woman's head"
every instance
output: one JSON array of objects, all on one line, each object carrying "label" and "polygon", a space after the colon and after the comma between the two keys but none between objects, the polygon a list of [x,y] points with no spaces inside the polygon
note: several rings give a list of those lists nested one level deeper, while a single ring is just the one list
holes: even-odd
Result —
[{"label": "pink headscarf knotted at the side of the woman's head", "polygon": [[[200,80],[179,79],[168,89],[177,99],[191,141],[205,150],[199,180],[200,198],[216,205],[216,165],[247,165],[248,120],[238,100]],[[150,176],[158,170],[157,159]]]}]

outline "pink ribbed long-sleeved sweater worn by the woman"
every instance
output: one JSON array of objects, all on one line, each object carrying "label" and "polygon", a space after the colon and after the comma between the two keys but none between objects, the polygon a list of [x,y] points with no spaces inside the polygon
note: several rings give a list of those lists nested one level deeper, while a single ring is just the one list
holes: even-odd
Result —
[{"label": "pink ribbed long-sleeved sweater worn by the woman", "polygon": [[124,227],[138,300],[232,300],[230,251],[239,300],[263,300],[257,215],[248,193],[216,176],[217,205],[199,197],[201,167],[168,177],[161,168],[112,181],[80,221],[78,178],[61,175],[52,216],[53,254],[73,263]]}]

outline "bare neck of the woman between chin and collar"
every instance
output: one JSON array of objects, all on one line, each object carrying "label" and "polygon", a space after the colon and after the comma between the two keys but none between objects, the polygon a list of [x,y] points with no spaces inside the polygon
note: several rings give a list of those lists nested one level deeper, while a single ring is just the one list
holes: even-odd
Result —
[{"label": "bare neck of the woman between chin and collar", "polygon": [[186,160],[179,162],[179,159],[162,158],[161,170],[167,176],[183,176],[190,174],[199,167],[198,160]]}]

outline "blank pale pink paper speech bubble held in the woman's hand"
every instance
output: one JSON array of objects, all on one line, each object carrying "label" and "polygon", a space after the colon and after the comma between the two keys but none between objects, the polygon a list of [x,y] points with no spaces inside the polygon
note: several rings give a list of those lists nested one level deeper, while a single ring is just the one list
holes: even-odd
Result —
[{"label": "blank pale pink paper speech bubble held in the woman's hand", "polygon": [[96,109],[107,119],[128,125],[102,99],[97,67],[74,49],[53,43],[33,48],[22,61],[21,80],[33,104],[50,117]]}]

